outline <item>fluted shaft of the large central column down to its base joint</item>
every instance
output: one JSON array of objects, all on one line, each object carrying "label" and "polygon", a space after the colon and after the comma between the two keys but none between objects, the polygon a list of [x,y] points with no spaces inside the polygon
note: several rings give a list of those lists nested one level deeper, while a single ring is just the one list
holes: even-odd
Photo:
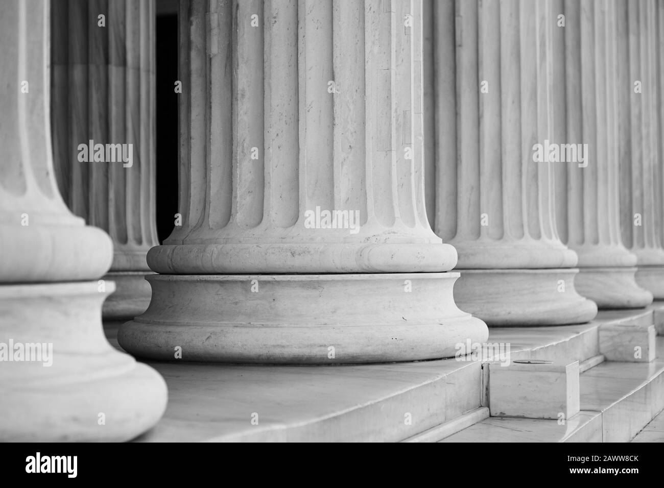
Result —
[{"label": "fluted shaft of the large central column down to its base joint", "polygon": [[182,16],[183,222],[151,268],[450,270],[424,209],[420,2],[210,5]]}]

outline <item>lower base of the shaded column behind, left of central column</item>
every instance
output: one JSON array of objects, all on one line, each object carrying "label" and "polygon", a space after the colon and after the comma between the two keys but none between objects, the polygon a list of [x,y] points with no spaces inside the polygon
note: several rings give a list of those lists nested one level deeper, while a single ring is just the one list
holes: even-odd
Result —
[{"label": "lower base of the shaded column behind, left of central column", "polygon": [[104,280],[112,280],[116,291],[112,293],[102,307],[104,320],[129,320],[141,315],[150,304],[152,290],[145,281],[145,272],[110,272]]}]

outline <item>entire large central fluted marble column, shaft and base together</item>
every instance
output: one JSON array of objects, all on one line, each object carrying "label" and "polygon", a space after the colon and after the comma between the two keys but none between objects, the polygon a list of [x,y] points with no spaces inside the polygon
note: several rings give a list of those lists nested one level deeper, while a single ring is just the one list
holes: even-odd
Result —
[{"label": "entire large central fluted marble column, shaft and base together", "polygon": [[361,363],[487,339],[424,208],[421,6],[181,2],[183,222],[122,347]]}]

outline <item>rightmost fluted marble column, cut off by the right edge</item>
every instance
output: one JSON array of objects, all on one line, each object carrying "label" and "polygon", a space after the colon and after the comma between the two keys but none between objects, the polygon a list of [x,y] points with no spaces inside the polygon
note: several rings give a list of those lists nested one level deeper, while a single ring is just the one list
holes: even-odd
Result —
[{"label": "rightmost fluted marble column, cut off by the right edge", "polygon": [[661,74],[655,1],[618,0],[620,223],[639,285],[664,299]]}]

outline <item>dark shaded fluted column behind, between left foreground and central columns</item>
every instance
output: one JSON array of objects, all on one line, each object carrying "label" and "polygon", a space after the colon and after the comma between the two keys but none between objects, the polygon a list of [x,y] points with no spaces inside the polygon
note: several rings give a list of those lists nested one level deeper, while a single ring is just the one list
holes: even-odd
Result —
[{"label": "dark shaded fluted column behind, between left foreground and central columns", "polygon": [[[149,304],[145,255],[159,244],[155,3],[56,0],[51,21],[56,181],[70,210],[113,240],[104,280],[116,282],[116,291],[104,302],[104,319],[131,319]],[[80,161],[78,147],[89,141],[130,145],[131,161]]]}]

